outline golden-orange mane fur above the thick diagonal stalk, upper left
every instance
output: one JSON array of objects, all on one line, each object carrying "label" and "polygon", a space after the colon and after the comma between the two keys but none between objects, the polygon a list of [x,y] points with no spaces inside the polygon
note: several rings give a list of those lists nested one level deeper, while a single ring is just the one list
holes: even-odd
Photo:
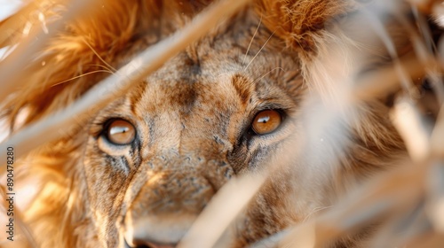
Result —
[{"label": "golden-orange mane fur above the thick diagonal stalk, upper left", "polygon": [[[62,1],[46,2],[31,2],[0,23],[0,34],[10,34],[0,44],[10,48],[17,45],[13,56],[0,60],[2,69],[23,56],[23,49],[28,50],[36,39],[33,33],[49,38],[24,58],[26,64],[10,72],[15,75],[7,83],[15,89],[9,90],[0,113],[12,122],[22,109],[28,110],[28,123],[69,105],[129,59],[122,53],[131,56],[131,50],[137,50],[135,36],[148,36],[149,32],[158,35],[153,26],[159,25],[160,0],[98,1],[91,5],[91,11],[75,12],[73,19],[59,23],[57,31],[52,23],[72,13]],[[20,22],[12,23],[13,19]],[[145,41],[149,42],[155,39]]]}]

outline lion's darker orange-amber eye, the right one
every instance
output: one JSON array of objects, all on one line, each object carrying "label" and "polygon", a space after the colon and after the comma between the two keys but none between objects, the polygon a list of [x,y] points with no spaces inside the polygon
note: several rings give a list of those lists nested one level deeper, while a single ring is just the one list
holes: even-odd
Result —
[{"label": "lion's darker orange-amber eye, the right one", "polygon": [[274,132],[281,126],[281,112],[275,110],[265,110],[258,112],[251,124],[253,131],[261,136]]}]

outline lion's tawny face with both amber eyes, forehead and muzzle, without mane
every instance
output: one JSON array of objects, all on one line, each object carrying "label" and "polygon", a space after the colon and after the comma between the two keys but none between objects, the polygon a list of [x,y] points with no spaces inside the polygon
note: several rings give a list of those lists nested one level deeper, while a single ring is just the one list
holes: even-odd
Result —
[{"label": "lion's tawny face with both amber eyes, forehead and muzzle, without mane", "polygon": [[[191,45],[91,122],[84,170],[104,244],[122,244],[119,231],[128,244],[178,243],[227,180],[273,164],[294,138],[298,62],[265,28],[247,53],[257,26],[237,19]],[[265,200],[242,239],[292,221],[266,220],[282,204]]]}]

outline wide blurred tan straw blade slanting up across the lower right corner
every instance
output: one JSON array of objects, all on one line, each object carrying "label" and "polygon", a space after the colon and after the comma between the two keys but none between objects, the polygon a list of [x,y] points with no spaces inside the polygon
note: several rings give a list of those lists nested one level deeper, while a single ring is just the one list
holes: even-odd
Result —
[{"label": "wide blurred tan straw blade slanting up across the lower right corner", "polygon": [[[320,247],[321,244],[353,233],[353,230],[366,223],[416,205],[423,192],[424,167],[395,170],[355,190],[329,212],[292,229],[283,236],[278,247],[302,247],[299,245],[301,243],[313,244],[304,247]],[[307,236],[313,229],[316,235]]]}]

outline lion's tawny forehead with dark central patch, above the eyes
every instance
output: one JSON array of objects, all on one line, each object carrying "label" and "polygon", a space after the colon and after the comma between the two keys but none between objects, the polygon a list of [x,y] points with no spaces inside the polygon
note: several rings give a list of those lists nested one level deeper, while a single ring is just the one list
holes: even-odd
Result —
[{"label": "lion's tawny forehead with dark central patch, above the eyes", "polygon": [[133,104],[141,112],[232,113],[251,104],[253,97],[260,101],[300,94],[289,89],[302,84],[295,76],[300,75],[297,58],[273,48],[251,52],[248,44],[218,40],[226,44],[194,44],[147,77],[143,97]]}]

